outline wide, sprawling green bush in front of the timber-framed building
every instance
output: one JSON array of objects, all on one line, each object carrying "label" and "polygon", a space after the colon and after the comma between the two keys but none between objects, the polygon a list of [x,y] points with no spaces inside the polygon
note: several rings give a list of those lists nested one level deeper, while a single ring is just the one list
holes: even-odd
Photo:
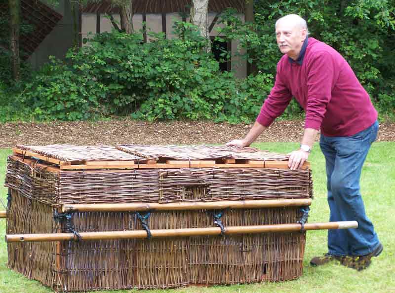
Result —
[{"label": "wide, sprawling green bush in front of the timber-framed building", "polygon": [[65,63],[52,59],[26,84],[21,99],[44,120],[131,115],[253,121],[273,76],[237,81],[219,70],[195,26],[177,22],[175,32],[175,39],[151,34],[149,43],[142,43],[141,34],[95,35],[87,46],[70,50]]}]

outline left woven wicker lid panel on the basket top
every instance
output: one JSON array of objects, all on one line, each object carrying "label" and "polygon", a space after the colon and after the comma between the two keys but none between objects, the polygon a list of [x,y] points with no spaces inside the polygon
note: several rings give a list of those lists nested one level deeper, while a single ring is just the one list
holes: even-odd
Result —
[{"label": "left woven wicker lid panel on the basket top", "polygon": [[74,146],[74,145],[48,145],[48,146],[23,146],[19,149],[36,152],[57,160],[71,161],[135,161],[144,159],[136,155],[120,151],[108,146]]}]

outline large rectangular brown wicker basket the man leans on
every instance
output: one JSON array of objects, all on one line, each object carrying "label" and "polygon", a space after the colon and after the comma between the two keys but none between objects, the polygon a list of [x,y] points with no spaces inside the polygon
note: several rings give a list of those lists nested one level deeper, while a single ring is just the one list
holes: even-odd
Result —
[{"label": "large rectangular brown wicker basket the man leans on", "polygon": [[[62,149],[62,146],[54,148]],[[123,160],[130,160],[127,155],[135,155],[133,160],[154,158],[156,162],[160,162],[169,159],[169,156],[163,156],[163,150],[158,155],[153,151],[144,152],[144,147],[138,153],[130,151],[133,146],[117,148],[117,151],[126,155]],[[35,151],[37,156],[64,162],[68,159],[61,155],[55,157],[51,151],[47,151],[51,147],[45,152],[34,147],[19,146],[18,149],[30,149],[29,154]],[[111,149],[112,152],[114,150]],[[221,149],[223,153],[217,157],[197,155],[195,159],[235,159],[237,164],[237,160],[251,159],[252,154],[257,152],[253,149],[246,150],[248,152],[243,153],[228,149],[231,154],[226,154],[226,150]],[[178,151],[182,153],[182,148]],[[249,155],[246,158],[247,153]],[[174,153],[172,155],[174,160],[185,159],[174,157]],[[275,160],[286,159],[278,154],[273,156],[276,157]],[[77,160],[70,160],[79,161],[78,166],[80,161],[89,161],[86,154],[84,157],[83,151],[76,157]],[[105,161],[105,158],[101,154],[96,161]],[[117,160],[117,156],[112,156],[110,160]],[[267,161],[266,158],[265,160]],[[60,208],[65,204],[312,197],[309,169],[136,167],[129,170],[62,170],[61,166],[60,161],[54,165],[27,153],[8,158],[6,186],[9,188],[10,199],[7,207],[7,234],[144,228],[139,214],[134,212],[60,214]],[[178,229],[215,227],[215,213],[218,214],[218,211],[151,211],[150,214],[142,215],[146,215],[150,229]],[[227,209],[221,211],[221,214],[224,226],[296,223],[302,215],[298,207]],[[190,284],[237,284],[295,279],[302,274],[304,247],[305,232],[8,243],[8,266],[60,292],[166,289]]]}]

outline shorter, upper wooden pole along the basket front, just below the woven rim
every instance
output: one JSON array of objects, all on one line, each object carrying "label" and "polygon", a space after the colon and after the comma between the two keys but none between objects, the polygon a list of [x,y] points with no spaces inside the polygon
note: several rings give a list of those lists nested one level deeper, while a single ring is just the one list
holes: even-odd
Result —
[{"label": "shorter, upper wooden pole along the basket front, just below the woven rim", "polygon": [[140,212],[140,211],[184,211],[184,210],[222,210],[258,209],[310,206],[311,198],[264,199],[233,201],[189,201],[173,203],[129,203],[129,204],[66,204],[62,212]]}]

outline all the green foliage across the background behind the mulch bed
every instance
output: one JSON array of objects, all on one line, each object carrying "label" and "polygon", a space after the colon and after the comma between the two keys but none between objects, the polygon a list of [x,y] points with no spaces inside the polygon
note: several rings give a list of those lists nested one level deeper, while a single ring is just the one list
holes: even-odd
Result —
[{"label": "all the green foliage across the background behind the mulch bed", "polygon": [[[255,1],[254,24],[243,23],[228,9],[221,15],[217,40],[239,40],[238,55],[257,67],[255,75],[242,80],[221,72],[204,50],[206,40],[184,22],[176,22],[176,38],[151,33],[149,43],[141,32],[90,36],[82,48],[70,49],[65,60],[51,59],[31,77],[27,68],[24,81],[16,85],[9,82],[9,56],[0,46],[1,119],[13,119],[24,109],[21,115],[40,120],[121,115],[151,121],[251,122],[273,86],[281,56],[275,21],[289,13],[304,17],[312,37],[346,58],[380,116],[394,119],[394,7],[394,0]],[[222,58],[231,56],[224,51]],[[292,101],[283,117],[300,115],[301,108]]]}]

